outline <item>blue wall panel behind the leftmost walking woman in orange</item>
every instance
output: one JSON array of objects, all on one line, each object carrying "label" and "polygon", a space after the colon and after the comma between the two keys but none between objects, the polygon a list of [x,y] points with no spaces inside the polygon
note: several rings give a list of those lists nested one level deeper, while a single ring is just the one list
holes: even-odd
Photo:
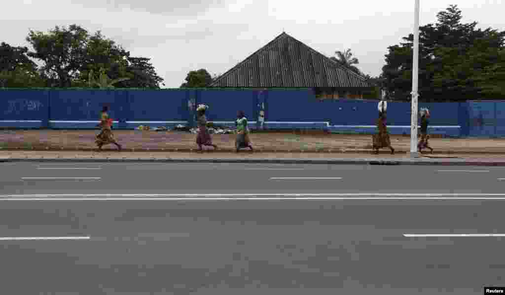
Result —
[{"label": "blue wall panel behind the leftmost walking woman in orange", "polygon": [[109,107],[115,125],[126,119],[124,91],[52,90],[49,100],[49,124],[53,128],[96,128],[104,106]]}]

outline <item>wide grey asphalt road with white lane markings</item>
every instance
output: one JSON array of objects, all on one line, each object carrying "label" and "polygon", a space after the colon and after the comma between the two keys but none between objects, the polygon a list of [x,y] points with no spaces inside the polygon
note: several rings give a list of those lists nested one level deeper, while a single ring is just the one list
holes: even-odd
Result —
[{"label": "wide grey asphalt road with white lane markings", "polygon": [[[505,285],[503,168],[7,163],[0,173],[6,294],[482,294]],[[455,194],[429,199],[444,193]],[[72,237],[82,239],[47,240]]]}]

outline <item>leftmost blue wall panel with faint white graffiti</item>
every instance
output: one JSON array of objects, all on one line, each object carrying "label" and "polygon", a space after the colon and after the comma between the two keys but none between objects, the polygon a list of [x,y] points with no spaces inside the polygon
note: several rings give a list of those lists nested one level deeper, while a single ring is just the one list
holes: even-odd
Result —
[{"label": "leftmost blue wall panel with faint white graffiti", "polygon": [[0,127],[46,127],[49,112],[47,90],[0,90]]}]

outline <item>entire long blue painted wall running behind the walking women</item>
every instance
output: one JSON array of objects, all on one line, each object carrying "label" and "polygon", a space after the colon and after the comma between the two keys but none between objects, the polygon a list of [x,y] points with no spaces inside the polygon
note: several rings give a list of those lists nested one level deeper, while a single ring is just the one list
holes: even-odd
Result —
[{"label": "entire long blue painted wall running behind the walking women", "polygon": [[[266,128],[328,128],[338,132],[375,132],[377,102],[319,101],[309,89],[164,89],[164,90],[21,90],[0,89],[0,127],[95,128],[104,105],[115,128],[173,126],[194,118],[188,101],[207,104],[209,121],[233,125],[238,110],[250,122],[265,105]],[[451,136],[505,136],[505,102],[420,103],[431,112],[430,132]],[[410,103],[389,103],[387,123],[393,134],[409,134]],[[77,122],[75,122],[77,121]],[[146,121],[150,121],[145,123]],[[142,122],[142,123],[139,123]],[[160,123],[164,122],[164,123]],[[290,122],[290,123],[289,123]],[[346,125],[346,126],[339,126]],[[349,125],[362,126],[352,127]],[[461,128],[439,128],[436,126]],[[251,124],[251,128],[255,128]],[[363,127],[365,126],[365,127]],[[370,126],[370,127],[366,127]]]}]

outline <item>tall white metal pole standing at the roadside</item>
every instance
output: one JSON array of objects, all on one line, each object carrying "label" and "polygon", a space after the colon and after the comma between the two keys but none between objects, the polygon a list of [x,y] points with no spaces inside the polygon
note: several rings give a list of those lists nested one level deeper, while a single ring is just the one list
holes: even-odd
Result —
[{"label": "tall white metal pole standing at the roadside", "polygon": [[417,99],[419,81],[419,0],[414,8],[414,58],[412,64],[412,114],[411,114],[411,158],[419,158],[417,151]]}]

